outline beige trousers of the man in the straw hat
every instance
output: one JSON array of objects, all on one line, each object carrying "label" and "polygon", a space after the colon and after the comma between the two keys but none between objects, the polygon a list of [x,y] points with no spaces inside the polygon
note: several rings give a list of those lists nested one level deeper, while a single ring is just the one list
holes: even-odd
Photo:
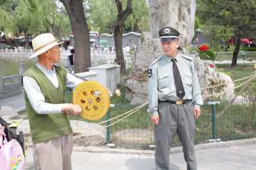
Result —
[{"label": "beige trousers of the man in the straw hat", "polygon": [[73,133],[33,143],[33,164],[35,170],[70,170],[73,150]]}]

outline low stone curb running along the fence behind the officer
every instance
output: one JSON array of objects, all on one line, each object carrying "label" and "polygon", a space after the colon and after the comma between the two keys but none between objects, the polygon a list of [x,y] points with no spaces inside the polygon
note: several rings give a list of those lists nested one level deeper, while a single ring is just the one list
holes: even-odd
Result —
[{"label": "low stone curb running along the fence behind the officer", "polygon": [[[211,149],[211,148],[224,148],[230,146],[240,146],[245,144],[256,144],[256,138],[252,139],[239,139],[234,141],[221,141],[217,143],[205,143],[195,146],[196,150]],[[74,146],[74,151],[77,152],[91,152],[91,153],[108,153],[108,154],[154,154],[154,150],[135,150],[128,148],[109,148],[108,146]],[[173,147],[171,153],[182,152],[182,146]]]}]

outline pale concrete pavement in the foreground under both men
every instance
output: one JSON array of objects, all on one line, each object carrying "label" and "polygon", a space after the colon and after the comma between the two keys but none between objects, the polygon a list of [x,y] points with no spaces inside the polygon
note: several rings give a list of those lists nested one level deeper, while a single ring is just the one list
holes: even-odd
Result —
[{"label": "pale concrete pavement in the foreground under both men", "polygon": [[[196,145],[198,170],[256,170],[256,138]],[[74,146],[72,167],[76,169],[153,170],[154,150]],[[170,150],[171,170],[185,170],[182,148]],[[33,169],[33,152],[28,148],[24,169]]]}]

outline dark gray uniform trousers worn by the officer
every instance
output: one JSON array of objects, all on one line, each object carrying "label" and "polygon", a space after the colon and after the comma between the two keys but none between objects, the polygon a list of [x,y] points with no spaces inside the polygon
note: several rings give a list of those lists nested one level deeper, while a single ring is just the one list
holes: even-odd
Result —
[{"label": "dark gray uniform trousers worn by the officer", "polygon": [[155,126],[156,169],[169,170],[169,150],[177,133],[183,148],[187,169],[196,170],[194,150],[194,109],[192,101],[184,105],[158,103],[160,122]]}]

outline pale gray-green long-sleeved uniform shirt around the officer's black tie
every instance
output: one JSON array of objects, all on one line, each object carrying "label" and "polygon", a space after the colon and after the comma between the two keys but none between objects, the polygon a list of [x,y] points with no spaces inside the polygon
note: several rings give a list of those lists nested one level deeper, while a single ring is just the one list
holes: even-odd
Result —
[{"label": "pale gray-green long-sleeved uniform shirt around the officer's black tie", "polygon": [[[192,58],[177,54],[175,59],[185,90],[182,100],[192,99],[194,107],[200,107],[203,99]],[[176,95],[173,61],[165,54],[153,61],[148,70],[148,112],[152,116],[158,114],[158,100],[181,100]]]}]

